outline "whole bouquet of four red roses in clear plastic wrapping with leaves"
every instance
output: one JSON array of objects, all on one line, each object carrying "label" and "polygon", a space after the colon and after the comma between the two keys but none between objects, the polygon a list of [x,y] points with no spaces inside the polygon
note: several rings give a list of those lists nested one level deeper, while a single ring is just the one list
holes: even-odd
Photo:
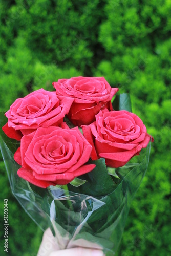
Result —
[{"label": "whole bouquet of four red roses in clear plastic wrapping with leaves", "polygon": [[118,88],[103,77],[53,86],[16,99],[8,122],[1,118],[12,192],[42,230],[50,227],[61,249],[114,255],[153,138],[131,112],[129,95],[114,96]]}]

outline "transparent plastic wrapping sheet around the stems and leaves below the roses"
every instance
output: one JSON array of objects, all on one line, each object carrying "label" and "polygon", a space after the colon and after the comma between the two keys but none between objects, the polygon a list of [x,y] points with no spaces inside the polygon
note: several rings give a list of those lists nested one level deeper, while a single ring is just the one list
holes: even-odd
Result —
[{"label": "transparent plastic wrapping sheet around the stems and leaves below the roses", "polygon": [[54,186],[42,189],[19,178],[20,166],[0,141],[13,195],[42,231],[51,228],[60,249],[83,246],[102,248],[107,256],[115,254],[131,201],[148,166],[151,143],[136,156],[139,162],[117,169],[122,178],[112,193],[92,197]]}]

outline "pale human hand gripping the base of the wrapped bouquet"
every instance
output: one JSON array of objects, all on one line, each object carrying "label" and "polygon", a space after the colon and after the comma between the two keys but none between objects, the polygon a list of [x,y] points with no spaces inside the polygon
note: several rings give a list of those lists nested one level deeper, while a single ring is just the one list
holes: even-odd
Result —
[{"label": "pale human hand gripping the base of the wrapped bouquet", "polygon": [[83,247],[60,250],[57,240],[48,228],[42,238],[37,256],[104,256],[98,249],[88,249]]}]

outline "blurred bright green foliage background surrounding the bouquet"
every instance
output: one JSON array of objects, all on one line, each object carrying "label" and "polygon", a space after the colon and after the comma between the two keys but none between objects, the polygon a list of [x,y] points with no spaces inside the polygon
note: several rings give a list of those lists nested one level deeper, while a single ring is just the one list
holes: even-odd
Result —
[{"label": "blurred bright green foliage background surrounding the bouquet", "polygon": [[[33,90],[72,76],[104,76],[155,138],[117,256],[171,253],[171,1],[1,0],[0,111]],[[2,160],[2,158],[1,158]],[[1,211],[8,198],[9,255],[36,255],[42,231],[11,195],[3,161]],[[1,229],[1,255],[4,253]]]}]

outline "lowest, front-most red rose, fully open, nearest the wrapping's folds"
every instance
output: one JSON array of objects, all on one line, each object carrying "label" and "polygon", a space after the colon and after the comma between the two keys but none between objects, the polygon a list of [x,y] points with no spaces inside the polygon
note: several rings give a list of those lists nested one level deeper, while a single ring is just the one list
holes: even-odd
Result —
[{"label": "lowest, front-most red rose, fully open, nearest the wrapping's folds", "polygon": [[40,127],[22,137],[21,146],[14,154],[15,161],[22,165],[17,172],[19,177],[46,188],[65,185],[94,169],[94,164],[84,165],[92,146],[78,127],[69,129],[66,123],[62,127]]}]

